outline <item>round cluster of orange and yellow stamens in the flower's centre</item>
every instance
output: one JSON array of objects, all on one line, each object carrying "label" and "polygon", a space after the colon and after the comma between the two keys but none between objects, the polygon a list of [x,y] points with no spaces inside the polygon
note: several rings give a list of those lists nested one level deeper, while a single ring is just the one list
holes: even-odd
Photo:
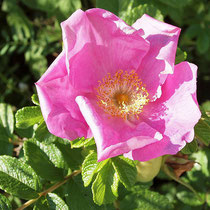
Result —
[{"label": "round cluster of orange and yellow stamens in the flower's centre", "polygon": [[96,88],[98,105],[111,116],[138,118],[149,102],[148,92],[134,70],[107,74]]}]

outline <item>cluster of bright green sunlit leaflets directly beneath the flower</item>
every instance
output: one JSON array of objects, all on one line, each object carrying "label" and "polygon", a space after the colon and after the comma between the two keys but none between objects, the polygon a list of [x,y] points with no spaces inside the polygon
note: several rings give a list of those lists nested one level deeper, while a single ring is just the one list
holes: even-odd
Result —
[{"label": "cluster of bright green sunlit leaflets directly beneath the flower", "polygon": [[119,182],[130,188],[135,184],[136,176],[135,163],[121,156],[97,162],[97,154],[92,151],[82,164],[84,186],[93,181],[93,200],[98,205],[113,202],[118,196]]}]

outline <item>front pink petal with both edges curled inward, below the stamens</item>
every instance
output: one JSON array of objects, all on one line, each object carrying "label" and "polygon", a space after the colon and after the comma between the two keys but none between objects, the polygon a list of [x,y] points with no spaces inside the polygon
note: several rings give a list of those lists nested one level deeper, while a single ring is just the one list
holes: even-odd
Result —
[{"label": "front pink petal with both edges curled inward, below the stamens", "polygon": [[104,113],[94,99],[78,96],[76,102],[97,145],[98,161],[159,141],[162,136],[145,122],[138,125]]}]

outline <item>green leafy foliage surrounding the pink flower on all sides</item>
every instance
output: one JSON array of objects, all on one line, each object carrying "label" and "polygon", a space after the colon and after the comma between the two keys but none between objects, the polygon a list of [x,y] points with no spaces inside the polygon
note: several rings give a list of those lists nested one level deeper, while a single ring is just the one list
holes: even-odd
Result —
[{"label": "green leafy foliage surrounding the pink flower on all sides", "polygon": [[[93,139],[70,143],[47,131],[34,82],[61,52],[60,22],[92,7],[128,24],[147,13],[182,28],[176,62],[187,57],[199,66],[203,115],[182,151],[199,164],[180,179],[167,167],[153,182],[135,183],[135,162],[119,156],[98,163]],[[0,209],[31,199],[27,209],[210,208],[208,0],[3,0],[0,8]]]}]

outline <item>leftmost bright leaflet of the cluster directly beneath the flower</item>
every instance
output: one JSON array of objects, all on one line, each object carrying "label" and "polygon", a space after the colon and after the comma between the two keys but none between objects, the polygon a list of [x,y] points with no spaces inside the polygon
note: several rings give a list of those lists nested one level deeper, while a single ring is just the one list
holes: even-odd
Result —
[{"label": "leftmost bright leaflet of the cluster directly beneath the flower", "polygon": [[99,163],[97,162],[97,154],[95,152],[92,152],[88,156],[86,156],[82,164],[82,179],[85,187],[87,187],[91,183],[98,164]]}]

